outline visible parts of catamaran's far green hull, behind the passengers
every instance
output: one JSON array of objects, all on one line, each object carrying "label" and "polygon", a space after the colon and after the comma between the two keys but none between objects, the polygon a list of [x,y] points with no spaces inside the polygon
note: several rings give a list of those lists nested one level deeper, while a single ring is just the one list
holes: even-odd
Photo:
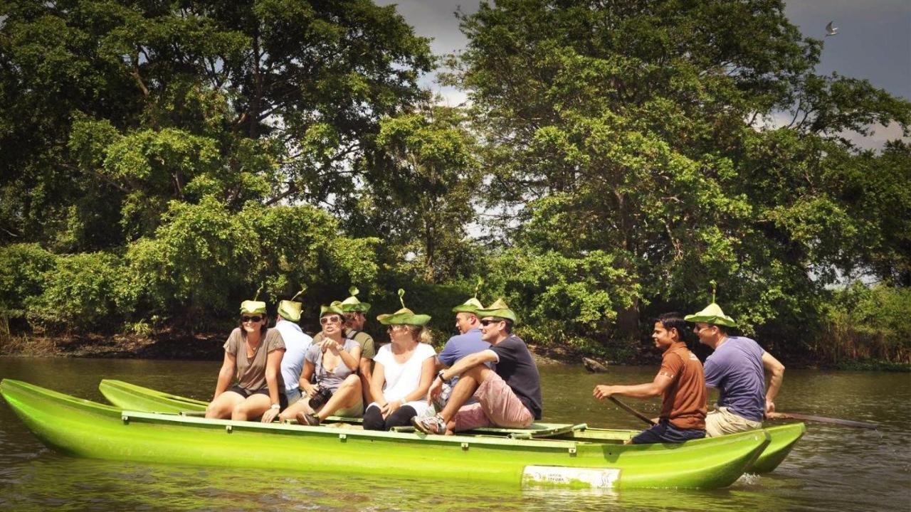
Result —
[{"label": "visible parts of catamaran's far green hull, behind the passengers", "polygon": [[[193,398],[162,393],[148,387],[118,380],[102,380],[101,384],[98,384],[98,390],[111,404],[134,411],[193,414],[202,413],[206,410],[206,405],[208,405],[207,402]],[[359,418],[344,418],[340,416],[330,416],[326,421],[328,423],[341,422],[347,424],[361,422]],[[763,430],[770,435],[771,442],[763,450],[763,453],[753,461],[752,465],[747,468],[747,473],[761,474],[773,471],[791,453],[793,446],[797,444],[797,441],[806,432],[806,426],[803,423],[793,423],[770,426]],[[603,442],[626,441],[638,433],[638,430],[589,428],[587,425],[550,423],[536,423],[527,429],[482,428],[473,432],[473,434],[479,435],[505,435],[521,438],[547,437],[588,442],[597,442],[599,440]]]}]

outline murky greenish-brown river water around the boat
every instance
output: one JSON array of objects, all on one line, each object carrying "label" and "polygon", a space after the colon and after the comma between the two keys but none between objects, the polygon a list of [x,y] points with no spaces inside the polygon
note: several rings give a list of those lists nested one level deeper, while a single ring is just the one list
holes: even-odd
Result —
[{"label": "murky greenish-brown river water around the boat", "polygon": [[[104,402],[103,378],[206,400],[220,362],[0,357],[0,377]],[[540,367],[544,421],[640,428],[591,397],[595,384],[650,381],[656,368]],[[875,422],[879,430],[808,424],[772,474],[742,476],[713,491],[522,490],[376,475],[274,471],[79,459],[47,449],[0,399],[0,510],[911,510],[911,374],[789,370],[776,400],[783,412]],[[627,402],[657,415],[659,402]],[[255,446],[251,446],[255,449]],[[352,464],[358,464],[352,460]]]}]

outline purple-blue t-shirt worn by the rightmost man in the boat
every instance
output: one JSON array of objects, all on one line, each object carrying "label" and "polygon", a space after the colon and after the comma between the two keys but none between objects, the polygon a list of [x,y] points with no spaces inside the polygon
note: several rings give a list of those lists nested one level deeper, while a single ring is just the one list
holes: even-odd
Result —
[{"label": "purple-blue t-shirt worn by the rightmost man in the boat", "polygon": [[743,336],[729,336],[705,360],[705,385],[721,393],[718,406],[752,421],[763,421],[763,347]]}]

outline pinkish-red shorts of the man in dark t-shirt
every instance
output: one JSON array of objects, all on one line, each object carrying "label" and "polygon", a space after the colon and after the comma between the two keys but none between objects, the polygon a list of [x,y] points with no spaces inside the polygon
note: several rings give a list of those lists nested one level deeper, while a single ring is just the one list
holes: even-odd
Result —
[{"label": "pinkish-red shorts of the man in dark t-shirt", "polygon": [[535,419],[506,381],[494,372],[477,386],[474,397],[477,404],[464,405],[455,413],[456,431],[491,425],[525,428]]}]

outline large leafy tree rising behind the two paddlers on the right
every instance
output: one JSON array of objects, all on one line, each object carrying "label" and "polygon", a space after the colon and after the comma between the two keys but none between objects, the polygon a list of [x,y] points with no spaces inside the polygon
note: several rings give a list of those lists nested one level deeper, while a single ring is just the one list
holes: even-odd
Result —
[{"label": "large leafy tree rising behind the two paddlers on the right", "polygon": [[[712,278],[748,333],[803,324],[837,271],[869,266],[855,241],[881,231],[852,215],[872,196],[844,193],[865,157],[842,132],[907,130],[911,104],[814,75],[822,42],[783,2],[503,0],[462,27],[451,80],[486,142],[487,207],[517,211],[521,248],[607,255],[629,278],[620,334],[704,306]],[[783,111],[792,126],[762,127]]]}]

